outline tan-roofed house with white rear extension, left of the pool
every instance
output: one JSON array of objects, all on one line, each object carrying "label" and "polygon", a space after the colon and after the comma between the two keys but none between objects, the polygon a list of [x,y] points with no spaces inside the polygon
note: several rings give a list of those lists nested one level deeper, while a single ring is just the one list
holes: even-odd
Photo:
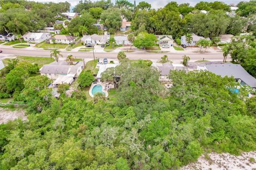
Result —
[{"label": "tan-roofed house with white rear extension, left of the pool", "polygon": [[83,70],[83,63],[76,62],[74,64],[68,65],[67,61],[53,62],[43,65],[39,71],[41,75],[46,75],[49,79],[54,80],[52,84],[71,84]]}]

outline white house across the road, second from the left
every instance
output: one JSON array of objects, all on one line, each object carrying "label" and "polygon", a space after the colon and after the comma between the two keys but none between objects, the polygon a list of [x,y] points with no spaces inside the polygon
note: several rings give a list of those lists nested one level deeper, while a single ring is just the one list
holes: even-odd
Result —
[{"label": "white house across the road, second from the left", "polygon": [[46,32],[28,32],[23,35],[23,39],[29,43],[41,43],[51,38],[51,33]]}]

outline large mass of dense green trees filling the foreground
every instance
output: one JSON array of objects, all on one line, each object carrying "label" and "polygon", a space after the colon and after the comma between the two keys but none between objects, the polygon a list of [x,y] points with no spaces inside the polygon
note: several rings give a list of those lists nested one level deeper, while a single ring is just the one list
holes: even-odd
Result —
[{"label": "large mass of dense green trees filling the foreground", "polygon": [[29,121],[0,125],[1,169],[177,169],[205,149],[256,149],[255,98],[245,100],[244,88],[230,92],[233,78],[172,71],[167,90],[146,61],[114,72],[121,79],[111,103],[77,92],[46,97],[46,77],[27,79]]}]

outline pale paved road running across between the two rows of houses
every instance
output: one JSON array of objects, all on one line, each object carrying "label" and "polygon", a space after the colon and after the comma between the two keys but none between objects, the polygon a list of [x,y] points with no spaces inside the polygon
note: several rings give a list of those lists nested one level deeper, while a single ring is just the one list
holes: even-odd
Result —
[{"label": "pale paved road running across between the two rows of houses", "polygon": [[[0,47],[3,50],[2,55],[24,55],[24,56],[42,56],[42,57],[49,57],[50,50],[43,50],[43,49],[22,49],[22,48],[12,48],[12,47]],[[76,58],[93,58],[92,52],[68,52],[63,51],[61,52],[63,57],[66,57],[68,54],[72,54]],[[188,51],[177,51],[176,53],[148,53],[148,52],[130,52],[126,53],[126,56],[129,59],[143,59],[143,60],[159,60],[163,55],[167,55],[169,60],[182,60],[183,55],[188,55],[191,60],[211,60],[211,61],[222,61],[223,56],[220,52],[209,52],[209,53],[195,53],[195,52],[188,52]],[[117,53],[115,52],[103,52],[98,51],[95,52],[95,57],[98,58],[116,58]]]}]

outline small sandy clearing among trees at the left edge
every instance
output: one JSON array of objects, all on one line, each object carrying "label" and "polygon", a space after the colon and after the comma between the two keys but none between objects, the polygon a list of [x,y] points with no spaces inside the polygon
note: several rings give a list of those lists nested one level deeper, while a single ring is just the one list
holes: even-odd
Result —
[{"label": "small sandy clearing among trees at the left edge", "polygon": [[0,124],[13,121],[17,118],[21,118],[23,121],[28,119],[25,115],[25,111],[10,111],[8,109],[0,108]]}]

